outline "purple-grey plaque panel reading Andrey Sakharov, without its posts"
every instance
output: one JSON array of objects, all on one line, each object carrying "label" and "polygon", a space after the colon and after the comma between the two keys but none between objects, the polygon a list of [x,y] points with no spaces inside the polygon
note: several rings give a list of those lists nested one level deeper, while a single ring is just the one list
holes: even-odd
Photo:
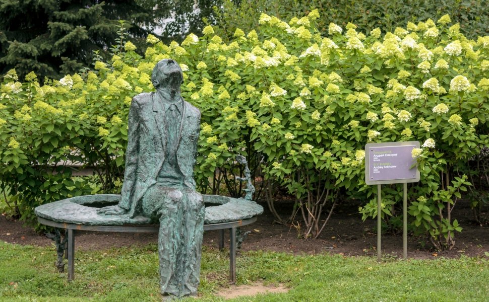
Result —
[{"label": "purple-grey plaque panel reading Andrey Sakharov, without its posts", "polygon": [[418,141],[368,143],[365,145],[365,183],[389,184],[419,181],[416,160],[411,156]]}]

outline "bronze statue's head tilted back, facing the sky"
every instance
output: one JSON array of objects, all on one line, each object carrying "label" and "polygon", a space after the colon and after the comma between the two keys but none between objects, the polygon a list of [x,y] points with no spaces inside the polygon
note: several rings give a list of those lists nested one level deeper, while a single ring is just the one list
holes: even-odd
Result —
[{"label": "bronze statue's head tilted back, facing the sky", "polygon": [[180,85],[184,82],[184,73],[176,61],[163,59],[154,66],[151,82],[156,90],[179,91]]}]

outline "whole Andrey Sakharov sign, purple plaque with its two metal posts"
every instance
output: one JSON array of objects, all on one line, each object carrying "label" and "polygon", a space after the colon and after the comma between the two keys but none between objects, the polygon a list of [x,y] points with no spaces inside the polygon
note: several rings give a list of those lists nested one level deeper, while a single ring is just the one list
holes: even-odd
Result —
[{"label": "whole Andrey Sakharov sign, purple plaque with its two metal posts", "polygon": [[365,145],[365,183],[377,185],[377,260],[382,258],[382,184],[403,184],[403,256],[407,258],[407,183],[419,181],[413,148],[419,141],[368,143]]}]

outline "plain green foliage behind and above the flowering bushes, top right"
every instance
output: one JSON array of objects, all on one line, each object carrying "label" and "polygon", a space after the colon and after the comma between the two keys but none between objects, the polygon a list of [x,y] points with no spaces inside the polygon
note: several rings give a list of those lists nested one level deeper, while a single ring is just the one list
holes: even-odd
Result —
[{"label": "plain green foliage behind and above the flowering bushes, top right", "polygon": [[[236,28],[250,31],[258,26],[258,16],[264,12],[283,20],[289,20],[302,12],[318,8],[321,18],[317,27],[328,30],[330,22],[340,26],[355,23],[365,33],[376,27],[394,31],[407,22],[424,21],[448,14],[454,23],[460,23],[460,31],[468,38],[489,34],[489,7],[485,0],[256,0],[239,4],[224,1],[223,9],[215,9],[219,21],[218,32],[231,34]],[[251,13],[252,12],[252,13]]]}]

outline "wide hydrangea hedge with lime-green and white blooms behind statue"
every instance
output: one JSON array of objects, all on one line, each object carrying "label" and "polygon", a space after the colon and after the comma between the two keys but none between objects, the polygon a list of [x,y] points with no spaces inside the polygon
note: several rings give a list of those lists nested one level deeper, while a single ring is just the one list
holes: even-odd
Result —
[{"label": "wide hydrangea hedge with lime-green and white blooms behind statue", "polygon": [[[318,18],[317,10],[288,23],[262,14],[229,43],[211,26],[181,45],[150,35],[143,57],[127,42],[94,71],[43,86],[34,73],[24,81],[11,70],[0,101],[2,190],[29,219],[38,204],[92,190],[60,161],[95,165],[105,191],[120,185],[131,98],[152,91],[154,64],[171,57],[185,71],[182,95],[202,111],[201,188],[244,154],[255,174],[295,195],[303,235],[318,237],[340,194],[365,200],[364,219],[377,215],[374,188],[363,181],[365,143],[419,140],[410,226],[452,248],[461,231],[452,208],[468,177],[481,177],[468,162],[488,144],[489,36],[467,39],[448,15],[368,36],[331,23],[323,36]],[[401,188],[384,191],[381,215],[396,228]]]}]

